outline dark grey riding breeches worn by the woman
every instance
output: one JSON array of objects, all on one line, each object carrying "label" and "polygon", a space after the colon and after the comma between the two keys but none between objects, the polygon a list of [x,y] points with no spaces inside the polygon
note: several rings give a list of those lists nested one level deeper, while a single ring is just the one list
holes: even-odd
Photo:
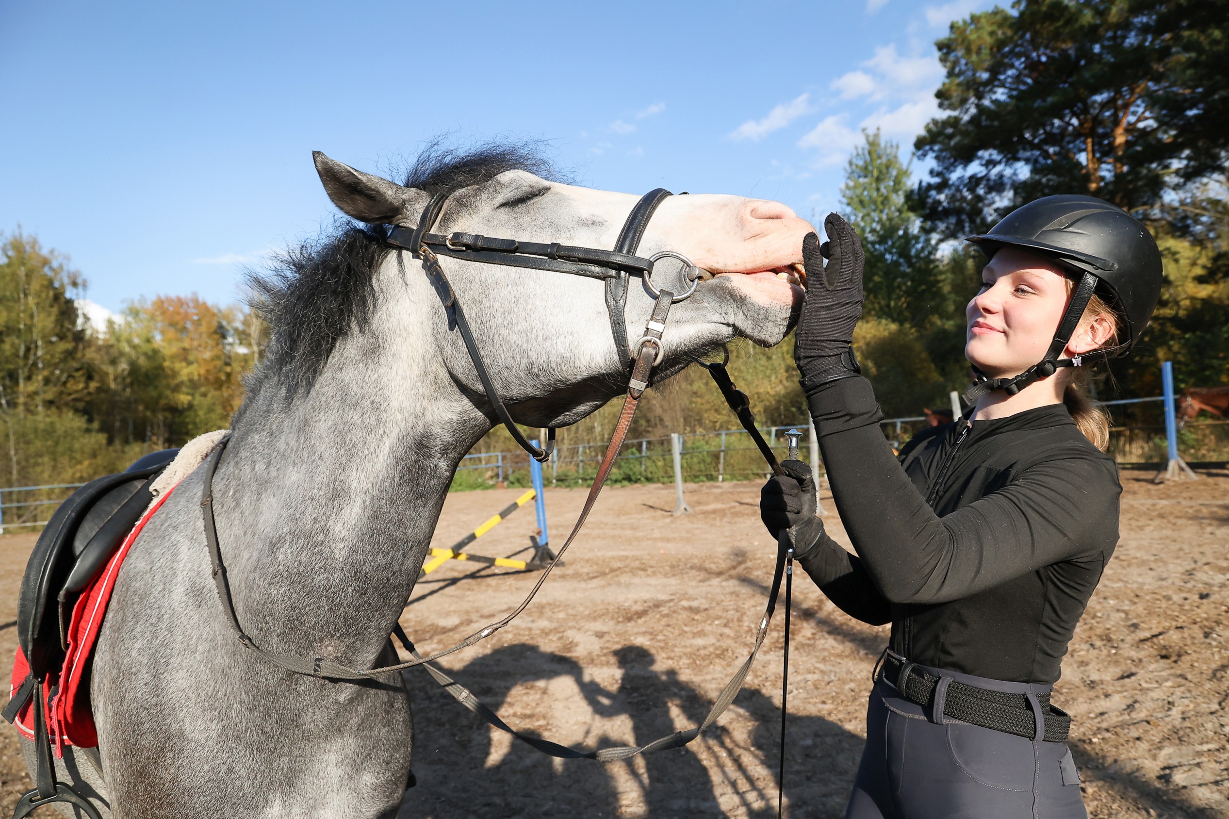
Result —
[{"label": "dark grey riding breeches worn by the woman", "polygon": [[[999,691],[1050,687],[917,668]],[[932,711],[900,696],[887,680],[875,682],[846,819],[1088,819],[1066,743],[935,718]]]}]

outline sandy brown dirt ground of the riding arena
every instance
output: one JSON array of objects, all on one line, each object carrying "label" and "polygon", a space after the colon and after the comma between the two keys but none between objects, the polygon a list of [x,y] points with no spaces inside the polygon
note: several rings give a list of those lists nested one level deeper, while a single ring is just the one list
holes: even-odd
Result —
[{"label": "sandy brown dirt ground of the riding arena", "polygon": [[[1123,472],[1122,542],[1093,596],[1056,703],[1093,817],[1229,817],[1229,472],[1152,485]],[[520,494],[452,494],[446,546]],[[584,492],[548,489],[563,540]],[[511,626],[442,665],[514,727],[586,749],[643,744],[688,728],[746,658],[774,545],[758,485],[606,491],[585,534]],[[844,532],[823,496],[826,520]],[[535,529],[530,507],[471,551],[510,556]],[[16,590],[32,536],[0,537],[0,663],[11,668]],[[203,547],[203,546],[202,546]],[[524,555],[522,555],[524,556]],[[450,562],[417,588],[402,623],[441,648],[511,609],[532,573]],[[627,762],[552,760],[408,676],[415,708],[406,819],[469,817],[771,817],[780,738],[780,612],[746,687],[685,749]],[[785,804],[841,817],[864,739],[865,697],[887,628],[849,620],[800,576],[794,588]],[[11,728],[0,730],[0,815],[29,787]],[[43,809],[45,812],[45,809]],[[54,815],[54,814],[48,814]]]}]

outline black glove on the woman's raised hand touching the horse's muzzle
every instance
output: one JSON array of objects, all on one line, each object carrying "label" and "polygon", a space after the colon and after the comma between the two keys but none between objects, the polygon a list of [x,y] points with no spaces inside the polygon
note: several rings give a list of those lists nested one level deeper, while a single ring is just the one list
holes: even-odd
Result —
[{"label": "black glove on the woman's raised hand touching the horse's muzzle", "polygon": [[828,241],[822,246],[815,234],[803,239],[806,301],[794,336],[794,362],[806,392],[860,371],[849,344],[862,316],[862,242],[834,213],[823,220],[823,230]]}]

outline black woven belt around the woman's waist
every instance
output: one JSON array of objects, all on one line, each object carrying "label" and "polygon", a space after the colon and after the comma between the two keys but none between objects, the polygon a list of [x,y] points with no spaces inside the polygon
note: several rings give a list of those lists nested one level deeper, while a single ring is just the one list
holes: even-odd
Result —
[{"label": "black woven belt around the woman's waist", "polygon": [[[907,673],[905,673],[907,670]],[[896,685],[897,691],[919,706],[934,705],[939,678],[927,674],[913,663],[901,662],[892,654],[884,658],[882,678]],[[905,676],[902,680],[901,676]],[[1039,694],[1041,712],[1046,721],[1045,740],[1047,743],[1067,742],[1072,718],[1067,712],[1050,705],[1050,694]],[[1029,697],[1024,694],[991,691],[965,682],[951,680],[948,684],[943,703],[943,713],[952,719],[967,722],[992,730],[1015,734],[1025,739],[1036,737],[1036,718]]]}]

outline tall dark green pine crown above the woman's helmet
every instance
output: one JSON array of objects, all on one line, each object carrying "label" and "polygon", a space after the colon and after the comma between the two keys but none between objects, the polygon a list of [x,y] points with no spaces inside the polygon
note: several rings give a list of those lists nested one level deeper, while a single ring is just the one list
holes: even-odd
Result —
[{"label": "tall dark green pine crown above the woman's helmet", "polygon": [[934,164],[919,186],[928,218],[955,237],[1052,193],[1131,210],[1223,161],[1224,64],[1211,60],[1224,53],[1225,2],[1207,4],[1201,33],[1182,10],[1202,4],[1016,0],[952,23],[935,43],[948,73],[935,96],[951,113],[916,143]]}]

